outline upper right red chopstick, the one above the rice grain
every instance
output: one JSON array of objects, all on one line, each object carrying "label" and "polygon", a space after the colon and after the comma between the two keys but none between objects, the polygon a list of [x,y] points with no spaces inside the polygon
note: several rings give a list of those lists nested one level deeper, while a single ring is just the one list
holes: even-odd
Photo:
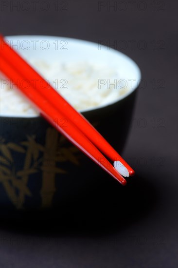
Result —
[{"label": "upper right red chopstick, the one above the rice grain", "polygon": [[[81,131],[101,152],[107,155],[110,160],[120,161],[128,170],[129,175],[134,175],[134,170],[125,162],[121,155],[111,147],[104,137],[97,132],[85,117],[79,114],[62,96],[60,96],[22,57],[15,51],[12,51],[10,46],[4,42],[2,36],[0,36],[0,42],[1,49],[4,51],[4,57],[12,63],[12,66],[14,66],[24,78],[28,79],[29,77],[33,77],[33,79],[36,79],[36,88],[38,88],[43,96],[49,99],[57,109],[60,107],[60,110],[65,111],[66,114],[70,115],[72,123],[77,127],[80,125]],[[43,81],[44,88],[48,88],[47,90],[41,88],[41,81]]]}]

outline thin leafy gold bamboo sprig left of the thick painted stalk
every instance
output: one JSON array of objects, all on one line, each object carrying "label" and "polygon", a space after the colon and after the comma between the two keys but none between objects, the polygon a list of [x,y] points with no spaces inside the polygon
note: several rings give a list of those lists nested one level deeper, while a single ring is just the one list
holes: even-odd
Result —
[{"label": "thin leafy gold bamboo sprig left of the thick painted stalk", "polygon": [[[37,145],[34,140],[35,137],[28,137],[28,141],[24,141],[17,145],[12,142],[8,142],[7,144],[3,144],[1,140],[0,151],[2,155],[0,156],[0,180],[3,183],[3,186],[7,192],[12,203],[16,206],[16,208],[23,208],[23,203],[25,201],[25,195],[31,196],[31,192],[27,187],[27,182],[29,179],[29,175],[37,172],[37,170],[31,166],[32,157],[38,158],[38,151],[44,150],[43,146]],[[3,141],[4,142],[4,141]],[[22,146],[26,146],[28,149],[25,150]],[[26,153],[24,168],[22,171],[15,171],[14,161],[12,158],[11,150],[17,153]],[[4,166],[6,165],[6,166]],[[7,166],[11,165],[11,169],[8,169]],[[14,173],[12,174],[11,170],[14,169]],[[18,179],[17,177],[20,177]],[[17,194],[17,190],[19,194]],[[18,202],[20,200],[20,202]]]}]

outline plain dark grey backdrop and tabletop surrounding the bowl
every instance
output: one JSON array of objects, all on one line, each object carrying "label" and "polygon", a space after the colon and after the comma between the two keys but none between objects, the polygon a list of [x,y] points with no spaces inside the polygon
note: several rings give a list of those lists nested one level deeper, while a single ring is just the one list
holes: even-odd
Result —
[{"label": "plain dark grey backdrop and tabletop surrounding the bowl", "polygon": [[3,35],[115,41],[139,65],[123,154],[136,176],[79,200],[63,223],[1,222],[0,268],[177,268],[177,1],[32,2],[1,1]]}]

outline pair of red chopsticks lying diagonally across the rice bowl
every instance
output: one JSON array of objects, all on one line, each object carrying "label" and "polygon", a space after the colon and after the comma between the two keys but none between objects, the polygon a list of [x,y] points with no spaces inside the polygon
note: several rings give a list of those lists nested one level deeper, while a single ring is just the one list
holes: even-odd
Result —
[{"label": "pair of red chopsticks lying diagonally across the rice bowl", "polygon": [[[42,77],[40,77],[36,71],[34,71],[30,65],[28,65],[18,54],[13,51],[3,40],[2,37],[0,37],[0,41],[2,43],[1,45],[1,70],[2,72],[12,79],[14,82],[17,81],[17,77],[19,80],[28,79],[29,77],[36,80],[36,89],[33,88],[32,83],[30,89],[28,91],[25,91],[25,89],[21,86],[20,90],[25,94],[25,96],[28,96],[33,103],[36,104],[36,107],[41,111],[41,114],[50,121],[54,127],[56,127],[62,134],[64,134],[68,139],[71,140],[71,142],[77,146],[81,151],[83,151],[85,154],[87,154],[94,162],[96,162],[99,166],[101,166],[103,169],[105,169],[108,173],[112,174],[116,179],[118,179],[122,184],[125,184],[125,179],[118,173],[116,170],[111,166],[111,164],[107,161],[107,159],[93,146],[91,141],[98,145],[97,147],[100,149],[103,148],[102,142],[109,145],[106,140],[91,126],[89,125],[89,122],[80,114],[75,111],[71,105],[66,102],[56,91],[47,84],[49,89],[43,90],[40,86],[40,82],[44,81]],[[3,54],[3,56],[2,56]],[[32,80],[32,79],[31,79]],[[30,82],[30,80],[28,79]],[[20,84],[20,83],[19,83]],[[40,105],[39,105],[40,104]],[[60,107],[60,111],[59,111]],[[65,113],[64,113],[65,112]],[[68,115],[66,116],[66,114]],[[61,129],[59,125],[56,125],[55,118],[56,115],[61,118],[65,117],[69,120],[70,128],[67,130]],[[68,116],[70,115],[70,119]],[[53,118],[53,120],[52,120]],[[78,126],[82,126],[83,133],[81,133],[81,130],[78,130]],[[69,130],[70,129],[70,130]],[[89,134],[89,131],[91,132]],[[93,138],[93,135],[97,134],[95,139]],[[87,137],[90,137],[87,139]],[[97,144],[96,144],[97,141]],[[106,145],[104,145],[105,147]],[[111,148],[110,151],[114,150],[110,145]],[[101,150],[102,151],[102,150]],[[106,151],[106,150],[103,150]],[[115,152],[115,151],[113,151]],[[110,155],[107,154],[106,155]],[[124,160],[121,158],[119,154],[117,155],[117,160],[119,160],[121,163]],[[119,155],[119,156],[118,156]],[[96,157],[97,156],[97,157]],[[99,159],[102,159],[99,161]],[[112,156],[113,159],[113,156]],[[116,156],[114,156],[114,160],[116,160]],[[126,163],[123,163],[125,167],[128,166]],[[132,169],[130,168],[130,173],[133,173]],[[118,178],[119,174],[119,178]]]}]

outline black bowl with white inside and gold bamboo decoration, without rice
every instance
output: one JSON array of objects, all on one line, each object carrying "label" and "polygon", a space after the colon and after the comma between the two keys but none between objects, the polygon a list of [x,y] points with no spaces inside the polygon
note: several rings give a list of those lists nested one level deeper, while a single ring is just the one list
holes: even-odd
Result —
[{"label": "black bowl with white inside and gold bamboo decoration, without rice", "polygon": [[[27,61],[96,61],[116,68],[129,90],[105,105],[80,110],[122,153],[141,72],[111,48],[85,40],[50,36],[5,38]],[[94,96],[93,96],[94,97]],[[113,180],[39,115],[0,115],[0,206],[6,211],[53,208],[96,185]]]}]

